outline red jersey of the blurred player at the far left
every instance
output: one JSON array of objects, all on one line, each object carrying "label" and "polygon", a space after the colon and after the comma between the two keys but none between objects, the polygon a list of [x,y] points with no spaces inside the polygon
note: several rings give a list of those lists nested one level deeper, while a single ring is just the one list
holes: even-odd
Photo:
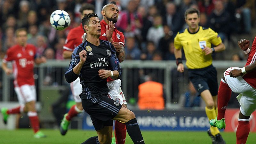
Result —
[{"label": "red jersey of the blurred player at the far left", "polygon": [[35,84],[33,78],[35,57],[36,47],[32,44],[27,44],[25,47],[17,44],[7,50],[3,62],[12,61],[15,87]]}]

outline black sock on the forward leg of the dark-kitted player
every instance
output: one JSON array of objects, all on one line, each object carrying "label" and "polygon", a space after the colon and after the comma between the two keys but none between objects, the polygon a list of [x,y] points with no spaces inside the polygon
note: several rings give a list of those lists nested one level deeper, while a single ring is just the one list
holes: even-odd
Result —
[{"label": "black sock on the forward leg of the dark-kitted player", "polygon": [[145,144],[136,118],[129,120],[125,125],[133,143]]}]

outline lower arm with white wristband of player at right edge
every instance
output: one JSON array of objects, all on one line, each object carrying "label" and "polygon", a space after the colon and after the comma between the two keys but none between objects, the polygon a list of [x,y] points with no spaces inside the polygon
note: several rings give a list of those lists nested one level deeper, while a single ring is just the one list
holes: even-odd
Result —
[{"label": "lower arm with white wristband of player at right edge", "polygon": [[250,64],[247,67],[243,67],[241,69],[233,69],[232,71],[229,72],[229,75],[231,77],[237,77],[237,76],[242,76],[248,72],[251,72],[253,70],[256,70],[256,61],[254,61],[252,64]]}]

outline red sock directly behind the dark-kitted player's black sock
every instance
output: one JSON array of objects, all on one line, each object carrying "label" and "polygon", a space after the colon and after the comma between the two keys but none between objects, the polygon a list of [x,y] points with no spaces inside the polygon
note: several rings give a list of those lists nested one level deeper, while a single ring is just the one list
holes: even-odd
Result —
[{"label": "red sock directly behind the dark-kitted player's black sock", "polygon": [[126,125],[119,121],[115,122],[116,144],[124,144],[126,138]]}]

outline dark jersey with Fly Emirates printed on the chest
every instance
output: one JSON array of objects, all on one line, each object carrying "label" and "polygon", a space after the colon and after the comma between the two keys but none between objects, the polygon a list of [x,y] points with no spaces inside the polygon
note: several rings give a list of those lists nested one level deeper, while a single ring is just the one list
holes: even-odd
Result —
[{"label": "dark jersey with Fly Emirates printed on the chest", "polygon": [[[82,50],[87,52],[87,58],[80,74],[76,75],[73,68],[79,63],[79,52]],[[78,76],[80,77],[80,83],[83,88],[83,92],[80,94],[81,99],[91,99],[100,95],[107,96],[107,79],[100,78],[98,73],[100,69],[118,70],[120,77],[121,68],[119,66],[119,61],[116,58],[114,46],[108,41],[103,40],[100,40],[99,46],[95,46],[88,41],[84,41],[74,49],[65,77],[68,83],[76,80]]]}]

